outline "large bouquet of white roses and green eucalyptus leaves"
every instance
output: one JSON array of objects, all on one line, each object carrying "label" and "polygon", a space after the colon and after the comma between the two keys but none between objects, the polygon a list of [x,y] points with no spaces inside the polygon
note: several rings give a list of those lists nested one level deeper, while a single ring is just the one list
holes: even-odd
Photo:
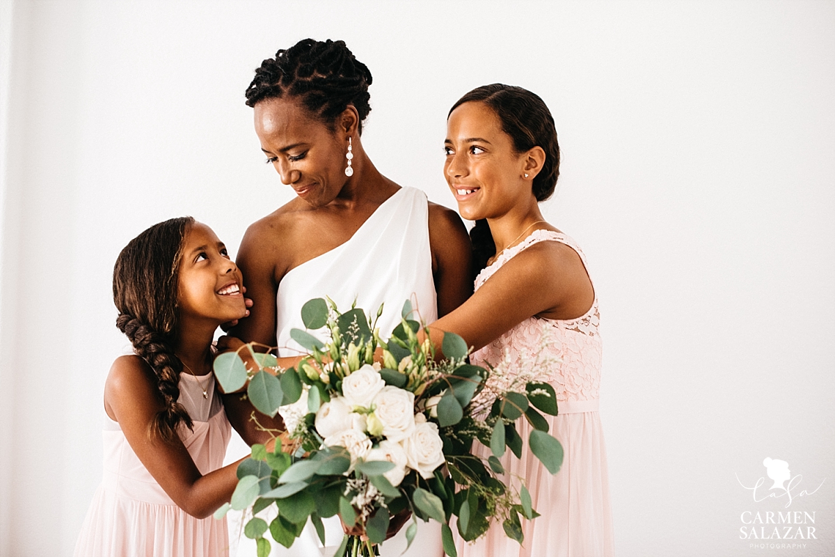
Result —
[{"label": "large bouquet of white roses and green eucalyptus leaves", "polygon": [[[274,452],[252,447],[230,503],[215,513],[218,519],[230,508],[251,513],[244,533],[256,539],[259,557],[270,553],[268,530],[290,547],[308,519],[325,544],[322,519],[337,514],[357,534],[345,535],[337,557],[378,554],[392,519],[402,524],[408,514],[407,543],[417,519],[434,519],[451,557],[453,515],[463,539],[478,538],[498,519],[522,543],[521,519],[539,514],[524,484],[515,489],[499,479],[499,457],[509,448],[520,458],[523,439],[514,423],[524,418],[534,427],[531,451],[551,474],[559,470],[563,449],[540,414],[557,414],[554,389],[517,382],[516,391],[490,392],[493,370],[467,363],[463,339],[445,334],[445,359],[436,361],[433,344],[417,338],[421,324],[413,313],[407,302],[384,342],[375,327],[382,306],[372,321],[362,309],[341,314],[331,300],[312,299],[301,309],[306,330],[291,331],[309,353],[296,368],[279,369],[275,357],[252,344],[215,359],[226,392],[248,380],[256,409],[281,414],[286,425]],[[320,329],[321,338],[311,334]],[[251,353],[256,369],[247,368],[241,350]],[[491,450],[487,459],[473,450],[475,439]],[[278,513],[267,524],[259,514],[271,505]]]}]

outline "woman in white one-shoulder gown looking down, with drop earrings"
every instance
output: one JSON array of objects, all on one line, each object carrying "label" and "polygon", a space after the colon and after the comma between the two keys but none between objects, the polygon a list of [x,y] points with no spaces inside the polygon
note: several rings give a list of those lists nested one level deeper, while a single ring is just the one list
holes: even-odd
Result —
[{"label": "woman in white one-shoulder gown looking down, with drop earrings", "polygon": [[[472,294],[472,251],[461,218],[383,176],[362,146],[371,84],[371,72],[342,41],[302,40],[256,69],[246,104],[266,162],[296,198],[245,233],[237,263],[254,306],[231,335],[277,345],[280,356],[290,357],[301,349],[290,331],[304,329],[300,313],[308,299],[329,296],[345,309],[355,301],[371,310],[384,304],[377,325],[385,333],[399,324],[407,299],[431,323]],[[227,395],[225,404],[251,442],[251,406],[240,398]],[[407,555],[442,555],[438,524],[419,528],[421,543]],[[279,552],[319,554],[308,529]],[[341,539],[338,520],[326,521],[326,541]],[[398,534],[382,544],[382,555],[405,547]]]}]

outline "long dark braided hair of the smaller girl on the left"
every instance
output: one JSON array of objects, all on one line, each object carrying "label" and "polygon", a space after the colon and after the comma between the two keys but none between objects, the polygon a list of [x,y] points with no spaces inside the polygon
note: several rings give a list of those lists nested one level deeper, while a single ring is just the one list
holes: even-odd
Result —
[{"label": "long dark braided hair of the smaller girl on the left", "polygon": [[154,224],[119,253],[113,269],[116,327],[134,352],[154,370],[164,409],[154,417],[149,434],[166,442],[177,439],[180,423],[192,428],[180,398],[183,364],[174,353],[180,259],[185,236],[195,219],[171,218]]}]

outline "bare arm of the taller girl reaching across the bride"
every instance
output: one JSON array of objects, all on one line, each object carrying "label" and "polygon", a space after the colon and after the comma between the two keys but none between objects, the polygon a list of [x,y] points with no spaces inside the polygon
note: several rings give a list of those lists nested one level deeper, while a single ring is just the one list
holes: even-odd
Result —
[{"label": "bare arm of the taller girl reaching across the bride", "polygon": [[541,242],[504,263],[461,307],[430,324],[430,338],[440,351],[443,332],[450,331],[478,350],[534,315],[580,317],[594,299],[579,255],[563,243]]}]

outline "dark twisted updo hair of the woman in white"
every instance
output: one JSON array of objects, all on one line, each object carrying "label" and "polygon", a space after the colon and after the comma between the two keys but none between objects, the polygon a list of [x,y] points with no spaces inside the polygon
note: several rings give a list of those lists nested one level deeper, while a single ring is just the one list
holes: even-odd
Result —
[{"label": "dark twisted updo hair of the woman in white", "polygon": [[362,133],[362,122],[371,112],[371,83],[371,72],[344,41],[306,38],[261,63],[246,88],[246,104],[254,107],[266,98],[296,97],[331,129],[350,104],[357,108]]}]

